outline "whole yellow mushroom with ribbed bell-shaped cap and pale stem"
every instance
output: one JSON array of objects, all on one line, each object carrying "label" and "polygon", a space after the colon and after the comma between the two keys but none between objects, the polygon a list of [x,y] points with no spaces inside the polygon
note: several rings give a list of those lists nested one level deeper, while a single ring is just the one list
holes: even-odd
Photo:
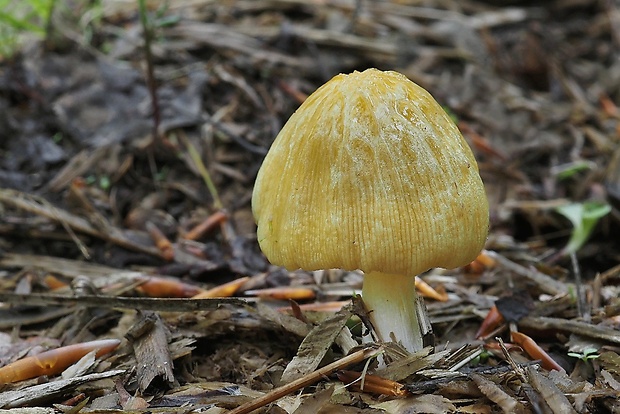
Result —
[{"label": "whole yellow mushroom with ribbed bell-shaped cap and pale stem", "polygon": [[274,140],[252,195],[267,259],[362,270],[382,341],[423,347],[415,276],[482,249],[488,202],[474,155],[423,88],[397,72],[337,75]]}]

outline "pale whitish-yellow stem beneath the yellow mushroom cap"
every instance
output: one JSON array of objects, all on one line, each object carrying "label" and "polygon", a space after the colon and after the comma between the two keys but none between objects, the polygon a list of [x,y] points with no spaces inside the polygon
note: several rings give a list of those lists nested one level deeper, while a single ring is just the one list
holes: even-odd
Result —
[{"label": "pale whitish-yellow stem beneath the yellow mushroom cap", "polygon": [[409,352],[423,348],[414,276],[366,273],[362,299],[379,339],[390,342],[393,337]]}]

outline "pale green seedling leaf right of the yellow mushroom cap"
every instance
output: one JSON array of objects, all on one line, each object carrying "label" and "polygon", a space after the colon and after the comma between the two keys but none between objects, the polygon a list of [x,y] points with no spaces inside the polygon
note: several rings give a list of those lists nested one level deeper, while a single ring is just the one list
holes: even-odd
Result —
[{"label": "pale green seedling leaf right of the yellow mushroom cap", "polygon": [[573,224],[573,232],[564,251],[577,252],[588,240],[596,223],[611,211],[611,206],[598,201],[570,203],[556,208],[556,211]]}]

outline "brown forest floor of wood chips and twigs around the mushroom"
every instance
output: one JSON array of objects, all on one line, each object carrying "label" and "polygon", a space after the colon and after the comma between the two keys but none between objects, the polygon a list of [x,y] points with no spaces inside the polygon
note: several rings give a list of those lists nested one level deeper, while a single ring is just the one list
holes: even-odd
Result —
[{"label": "brown forest floor of wood chips and twigs around the mushroom", "polygon": [[[149,49],[138,2],[56,3],[0,60],[1,408],[620,412],[617,1],[170,0]],[[251,210],[291,114],[371,67],[489,199],[481,255],[420,275],[414,354],[362,341],[360,272],[270,265]]]}]

